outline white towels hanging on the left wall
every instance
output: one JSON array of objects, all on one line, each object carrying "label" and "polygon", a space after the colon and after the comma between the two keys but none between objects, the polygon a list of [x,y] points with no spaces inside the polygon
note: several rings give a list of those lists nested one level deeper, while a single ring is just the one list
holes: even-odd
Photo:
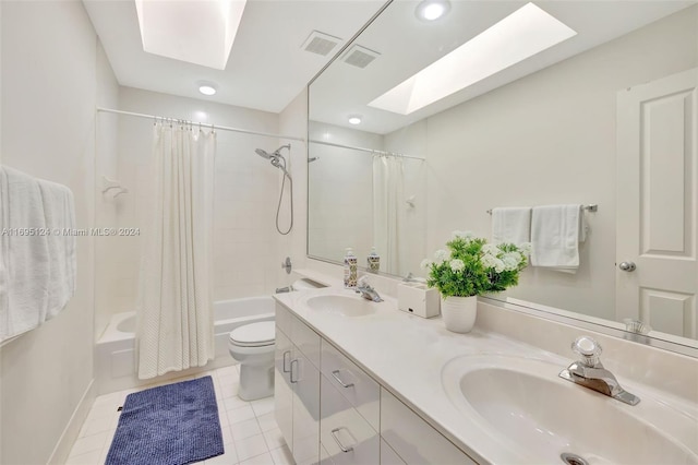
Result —
[{"label": "white towels hanging on the left wall", "polygon": [[0,167],[0,343],[60,312],[75,293],[72,192]]}]

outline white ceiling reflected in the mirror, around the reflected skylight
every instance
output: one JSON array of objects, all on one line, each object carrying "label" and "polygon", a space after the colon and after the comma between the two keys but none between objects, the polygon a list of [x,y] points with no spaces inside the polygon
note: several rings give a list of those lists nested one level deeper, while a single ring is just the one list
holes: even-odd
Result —
[{"label": "white ceiling reflected in the mirror, around the reflected skylight", "polygon": [[[358,44],[381,56],[364,69],[341,60],[328,67],[311,86],[311,119],[385,134],[697,4],[696,0],[534,1],[578,34],[410,115],[368,106],[528,1],[452,0],[448,15],[433,23],[416,17],[419,0],[394,1],[357,38]],[[361,124],[349,124],[350,115],[361,115]]]}]

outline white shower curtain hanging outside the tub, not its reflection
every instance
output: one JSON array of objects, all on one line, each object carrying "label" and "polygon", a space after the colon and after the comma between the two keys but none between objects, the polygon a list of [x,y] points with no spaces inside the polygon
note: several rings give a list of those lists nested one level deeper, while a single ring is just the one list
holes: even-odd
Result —
[{"label": "white shower curtain hanging outside the tub, not its reflection", "polygon": [[139,378],[214,358],[212,238],[215,132],[156,123],[136,341]]}]

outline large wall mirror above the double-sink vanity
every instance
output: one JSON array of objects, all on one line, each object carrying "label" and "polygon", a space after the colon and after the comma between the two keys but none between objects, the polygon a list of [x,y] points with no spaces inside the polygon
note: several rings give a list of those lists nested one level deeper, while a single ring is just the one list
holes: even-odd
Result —
[{"label": "large wall mirror above the double-sink vanity", "polygon": [[529,266],[496,298],[695,347],[698,4],[446,7],[393,1],[310,85],[309,255],[374,247],[424,276],[494,207],[595,205],[575,273]]}]

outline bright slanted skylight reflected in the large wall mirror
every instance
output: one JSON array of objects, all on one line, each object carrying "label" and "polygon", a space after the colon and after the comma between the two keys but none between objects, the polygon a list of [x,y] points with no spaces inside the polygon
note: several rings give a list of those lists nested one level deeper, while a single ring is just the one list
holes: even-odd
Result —
[{"label": "bright slanted skylight reflected in the large wall mirror", "polygon": [[409,115],[575,35],[554,16],[527,3],[369,106]]}]

